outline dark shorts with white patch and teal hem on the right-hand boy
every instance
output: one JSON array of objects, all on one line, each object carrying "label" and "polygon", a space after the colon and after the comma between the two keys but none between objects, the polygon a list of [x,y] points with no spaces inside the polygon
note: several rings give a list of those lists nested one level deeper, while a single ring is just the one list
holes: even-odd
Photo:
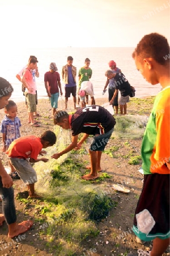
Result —
[{"label": "dark shorts with white patch and teal hem on the right-hand boy", "polygon": [[133,226],[135,235],[141,240],[151,241],[156,237],[170,237],[169,177],[169,174],[144,175]]}]

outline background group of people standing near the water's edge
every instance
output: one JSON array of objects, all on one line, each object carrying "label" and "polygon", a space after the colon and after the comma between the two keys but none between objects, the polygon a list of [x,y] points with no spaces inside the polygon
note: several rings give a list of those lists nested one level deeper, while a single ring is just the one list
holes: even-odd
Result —
[{"label": "background group of people standing near the water's edge", "polygon": [[[38,60],[36,56],[30,56],[28,65],[24,66],[21,71],[18,72],[16,78],[22,82],[22,88],[25,95],[25,104],[28,108],[28,122],[31,126],[39,127],[33,117],[37,117],[40,114],[36,111],[37,105],[37,86],[35,77],[39,77],[39,71],[37,67]],[[116,109],[118,114],[118,105],[120,106],[120,114],[126,114],[127,103],[129,102],[130,84],[121,69],[116,67],[115,61],[109,61],[109,69],[105,72],[107,76],[107,82],[104,86],[103,94],[107,90],[109,94],[109,102]],[[32,79],[31,79],[32,73]],[[86,58],[84,66],[80,68],[78,72],[79,82],[78,89],[76,86],[76,67],[73,65],[73,57],[67,57],[67,64],[62,67],[62,80],[65,84],[65,110],[67,110],[68,99],[73,96],[74,109],[80,108],[80,101],[82,108],[88,106],[88,96],[91,97],[91,105],[95,105],[94,98],[94,86],[90,81],[92,76],[92,69],[90,68],[90,59]],[[62,96],[61,79],[58,73],[56,63],[50,63],[49,71],[44,75],[44,83],[46,93],[50,99],[50,104],[53,108],[53,115],[58,108],[59,94]],[[121,97],[118,100],[118,90],[120,90]],[[78,94],[78,99],[76,99]],[[76,104],[77,102],[77,104]]]}]

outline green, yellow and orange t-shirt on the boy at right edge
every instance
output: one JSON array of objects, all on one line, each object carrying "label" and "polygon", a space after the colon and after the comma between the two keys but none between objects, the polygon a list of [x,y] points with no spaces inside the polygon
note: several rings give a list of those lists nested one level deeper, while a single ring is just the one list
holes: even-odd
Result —
[{"label": "green, yellow and orange t-shirt on the boy at right edge", "polygon": [[170,160],[170,86],[155,98],[142,141],[142,169],[144,174],[169,174]]}]

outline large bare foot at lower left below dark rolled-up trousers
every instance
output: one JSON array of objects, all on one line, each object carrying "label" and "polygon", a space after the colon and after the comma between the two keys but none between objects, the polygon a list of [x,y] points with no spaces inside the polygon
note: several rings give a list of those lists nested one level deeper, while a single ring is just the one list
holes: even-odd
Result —
[{"label": "large bare foot at lower left below dark rolled-up trousers", "polygon": [[8,233],[8,237],[13,238],[13,237],[17,237],[19,236],[19,234],[22,234],[24,232],[26,232],[28,229],[31,228],[31,226],[33,225],[33,222],[31,220],[27,220],[27,221],[23,221],[19,224],[10,224],[9,225],[9,233]]}]

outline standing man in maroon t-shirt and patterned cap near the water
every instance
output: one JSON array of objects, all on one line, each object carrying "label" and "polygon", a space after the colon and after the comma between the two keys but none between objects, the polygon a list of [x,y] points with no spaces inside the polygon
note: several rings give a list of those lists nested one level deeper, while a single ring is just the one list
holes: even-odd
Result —
[{"label": "standing man in maroon t-shirt and patterned cap near the water", "polygon": [[[60,76],[57,72],[57,66],[56,63],[52,62],[49,66],[49,71],[45,73],[44,75],[44,82],[45,82],[45,88],[46,92],[48,94],[48,97],[51,102],[51,106],[53,108],[53,115],[56,112],[56,109],[58,108],[58,97],[59,97],[59,90],[60,94],[62,95],[62,89],[61,89],[61,82],[60,82]],[[59,88],[59,89],[58,89]]]}]

